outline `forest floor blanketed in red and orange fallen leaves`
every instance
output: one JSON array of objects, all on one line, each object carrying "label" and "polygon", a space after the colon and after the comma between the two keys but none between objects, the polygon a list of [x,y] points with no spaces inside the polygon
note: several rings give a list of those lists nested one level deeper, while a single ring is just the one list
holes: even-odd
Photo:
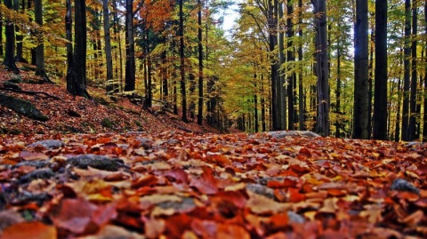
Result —
[{"label": "forest floor blanketed in red and orange fallen leaves", "polygon": [[50,118],[0,108],[1,239],[427,238],[426,144],[218,134],[60,84],[20,87],[60,100],[0,90]]}]

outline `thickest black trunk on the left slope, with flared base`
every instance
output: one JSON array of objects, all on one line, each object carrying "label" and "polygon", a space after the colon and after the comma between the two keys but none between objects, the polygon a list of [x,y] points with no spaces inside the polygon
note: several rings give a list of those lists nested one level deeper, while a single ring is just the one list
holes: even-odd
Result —
[{"label": "thickest black trunk on the left slope, with flared base", "polygon": [[67,73],[67,90],[73,95],[90,98],[86,91],[86,3],[75,0],[75,47],[73,64]]}]

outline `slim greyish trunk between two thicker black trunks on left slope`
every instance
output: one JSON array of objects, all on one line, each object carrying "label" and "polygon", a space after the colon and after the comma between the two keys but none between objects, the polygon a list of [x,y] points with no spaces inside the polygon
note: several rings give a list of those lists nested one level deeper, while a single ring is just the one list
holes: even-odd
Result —
[{"label": "slim greyish trunk between two thicker black trunks on left slope", "polygon": [[111,35],[109,33],[109,0],[102,0],[102,13],[104,16],[104,42],[105,60],[107,65],[107,93],[116,91],[116,84],[113,82],[113,55],[111,53]]}]

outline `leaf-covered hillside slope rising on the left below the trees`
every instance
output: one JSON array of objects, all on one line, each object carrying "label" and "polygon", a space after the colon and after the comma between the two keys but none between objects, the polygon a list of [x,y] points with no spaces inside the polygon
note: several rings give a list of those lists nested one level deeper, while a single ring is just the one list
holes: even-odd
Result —
[{"label": "leaf-covered hillside slope rising on the left below the trees", "polygon": [[[103,89],[96,87],[88,87],[93,100],[74,97],[68,94],[63,79],[55,84],[46,84],[34,76],[30,66],[21,65],[21,69],[24,70],[18,76],[0,67],[0,94],[28,100],[48,120],[42,122],[22,116],[0,102],[0,133],[218,132],[194,122],[183,123],[180,116],[167,111],[141,109],[125,96],[115,97],[116,101],[110,100]],[[12,87],[19,87],[27,93],[16,92],[16,89],[12,91],[9,85],[4,84],[11,80],[14,83]]]}]

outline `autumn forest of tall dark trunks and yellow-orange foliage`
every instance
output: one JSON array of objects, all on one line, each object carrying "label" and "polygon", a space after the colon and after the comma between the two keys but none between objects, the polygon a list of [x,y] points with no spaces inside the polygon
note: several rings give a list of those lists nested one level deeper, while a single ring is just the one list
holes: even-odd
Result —
[{"label": "autumn forest of tall dark trunks and yellow-orange foliage", "polygon": [[[238,16],[228,32],[224,11]],[[218,129],[427,137],[421,1],[4,1],[0,54]],[[229,11],[230,14],[230,11]],[[228,23],[230,24],[230,23]]]}]

